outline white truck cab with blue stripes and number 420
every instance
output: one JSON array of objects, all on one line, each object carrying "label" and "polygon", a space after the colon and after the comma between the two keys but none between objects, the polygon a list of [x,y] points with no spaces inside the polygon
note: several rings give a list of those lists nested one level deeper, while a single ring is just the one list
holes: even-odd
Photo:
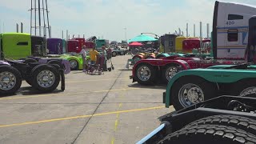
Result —
[{"label": "white truck cab with blue stripes and number 420", "polygon": [[252,50],[246,49],[255,41],[255,14],[256,6],[215,2],[212,39],[214,59],[251,60],[246,58],[246,52]]}]

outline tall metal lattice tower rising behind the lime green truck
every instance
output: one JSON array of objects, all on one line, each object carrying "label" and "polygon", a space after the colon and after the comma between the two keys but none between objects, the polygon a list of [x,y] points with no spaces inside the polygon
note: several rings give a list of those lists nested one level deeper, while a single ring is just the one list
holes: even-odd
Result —
[{"label": "tall metal lattice tower rising behind the lime green truck", "polygon": [[[43,29],[43,37],[46,38],[47,36],[46,29],[48,29],[48,35],[50,38],[51,31],[50,31],[50,24],[49,24],[49,14],[48,14],[49,11],[48,11],[47,0],[31,0],[30,2],[31,2],[30,3],[31,8],[29,10],[30,11],[30,34],[32,34],[32,31],[34,30],[34,35],[37,36],[37,32],[39,31],[39,36],[42,36],[42,29]],[[33,16],[34,16],[34,19],[33,19]],[[47,18],[48,26],[46,26],[46,18]],[[41,21],[42,19],[43,19],[43,24]]]}]

